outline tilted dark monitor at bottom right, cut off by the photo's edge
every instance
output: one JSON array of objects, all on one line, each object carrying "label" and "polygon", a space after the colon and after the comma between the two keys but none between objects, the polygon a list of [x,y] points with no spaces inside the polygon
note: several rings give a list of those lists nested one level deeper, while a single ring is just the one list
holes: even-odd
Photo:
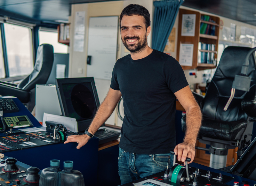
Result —
[{"label": "tilted dark monitor at bottom right, cut off by the photo's edge", "polygon": [[247,147],[236,164],[230,169],[244,178],[256,180],[256,138]]}]

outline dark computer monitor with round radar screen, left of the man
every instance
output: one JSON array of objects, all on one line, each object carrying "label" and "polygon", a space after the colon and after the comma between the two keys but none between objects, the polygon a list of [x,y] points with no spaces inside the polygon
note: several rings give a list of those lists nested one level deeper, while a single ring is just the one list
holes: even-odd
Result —
[{"label": "dark computer monitor with round radar screen, left of the man", "polygon": [[76,118],[78,131],[86,130],[100,106],[94,78],[61,78],[55,84],[62,115]]}]

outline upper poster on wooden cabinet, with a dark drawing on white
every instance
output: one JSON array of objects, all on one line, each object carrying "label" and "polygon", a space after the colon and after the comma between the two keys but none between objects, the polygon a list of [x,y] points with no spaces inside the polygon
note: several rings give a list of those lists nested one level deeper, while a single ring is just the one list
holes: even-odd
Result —
[{"label": "upper poster on wooden cabinet, with a dark drawing on white", "polygon": [[196,14],[183,14],[181,36],[195,36]]}]

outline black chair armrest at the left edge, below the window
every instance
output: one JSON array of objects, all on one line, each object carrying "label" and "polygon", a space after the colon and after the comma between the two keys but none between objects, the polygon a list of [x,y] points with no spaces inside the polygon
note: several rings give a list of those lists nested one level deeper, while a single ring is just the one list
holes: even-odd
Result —
[{"label": "black chair armrest at the left edge, below the window", "polygon": [[21,88],[0,83],[0,95],[17,97],[22,103],[30,101],[31,93]]}]

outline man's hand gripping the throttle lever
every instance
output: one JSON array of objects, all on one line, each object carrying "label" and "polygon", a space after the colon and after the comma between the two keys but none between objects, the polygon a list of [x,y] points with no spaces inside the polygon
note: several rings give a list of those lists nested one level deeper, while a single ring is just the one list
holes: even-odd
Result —
[{"label": "man's hand gripping the throttle lever", "polygon": [[183,163],[185,163],[186,158],[190,158],[191,161],[189,161],[188,163],[192,163],[196,154],[195,145],[191,145],[188,143],[180,143],[176,145],[173,151],[178,157],[178,161],[182,161]]}]

